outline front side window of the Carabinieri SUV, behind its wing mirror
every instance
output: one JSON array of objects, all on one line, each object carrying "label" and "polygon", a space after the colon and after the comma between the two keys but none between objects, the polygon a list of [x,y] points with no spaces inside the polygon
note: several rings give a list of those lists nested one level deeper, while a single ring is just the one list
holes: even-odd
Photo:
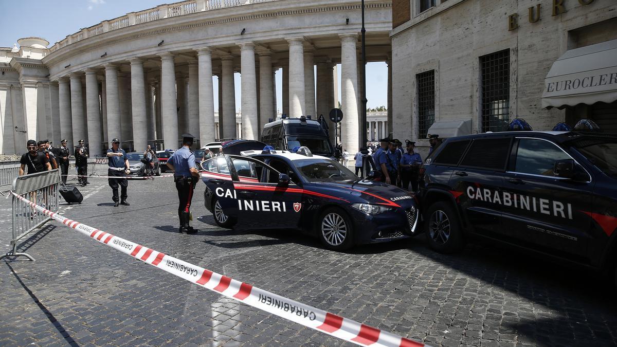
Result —
[{"label": "front side window of the Carabinieri SUV, behind its wing mirror", "polygon": [[515,172],[554,176],[556,161],[571,159],[568,154],[549,141],[521,138],[516,151]]}]

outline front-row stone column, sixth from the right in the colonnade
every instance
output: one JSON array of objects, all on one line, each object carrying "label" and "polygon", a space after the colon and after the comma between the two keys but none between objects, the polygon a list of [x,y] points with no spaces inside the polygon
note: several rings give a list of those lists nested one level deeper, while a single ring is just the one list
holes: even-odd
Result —
[{"label": "front-row stone column, sixth from the right in the colonnade", "polygon": [[146,86],[144,85],[144,61],[139,58],[131,62],[131,110],[133,113],[133,150],[143,152],[148,145],[146,125]]}]

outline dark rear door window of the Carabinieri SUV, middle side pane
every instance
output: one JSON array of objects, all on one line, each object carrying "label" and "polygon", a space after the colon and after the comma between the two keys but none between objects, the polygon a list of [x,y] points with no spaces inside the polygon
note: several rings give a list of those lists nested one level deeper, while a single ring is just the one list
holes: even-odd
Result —
[{"label": "dark rear door window of the Carabinieri SUV, middle side pane", "polygon": [[510,157],[511,138],[478,138],[473,140],[461,166],[485,170],[503,170]]}]

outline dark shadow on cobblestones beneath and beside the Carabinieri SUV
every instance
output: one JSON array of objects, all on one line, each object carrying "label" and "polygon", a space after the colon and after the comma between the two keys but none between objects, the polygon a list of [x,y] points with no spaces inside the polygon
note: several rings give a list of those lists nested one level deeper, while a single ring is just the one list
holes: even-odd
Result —
[{"label": "dark shadow on cobblestones beneath and beside the Carabinieri SUV", "polygon": [[542,312],[515,314],[508,311],[518,310],[508,306],[491,311],[489,302],[487,318],[500,322],[495,333],[516,333],[521,342],[545,346],[615,345],[615,291],[589,269],[485,241],[468,244],[458,254],[439,254],[424,246],[411,249],[457,270],[462,278],[485,282],[478,296],[491,295],[496,286],[520,297],[517,300],[534,303]]}]

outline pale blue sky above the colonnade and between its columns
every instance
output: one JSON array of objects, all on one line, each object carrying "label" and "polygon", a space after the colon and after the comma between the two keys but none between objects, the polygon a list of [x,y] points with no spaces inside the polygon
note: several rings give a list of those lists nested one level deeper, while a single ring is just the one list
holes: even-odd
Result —
[{"label": "pale blue sky above the colonnade and between its columns", "polygon": [[[172,3],[169,1],[168,3]],[[51,44],[64,39],[80,28],[149,9],[164,3],[161,0],[0,0],[2,27],[0,47],[12,47],[17,39],[38,36]],[[339,80],[341,76],[339,65]],[[368,107],[387,106],[387,66],[383,62],[366,66],[366,97]],[[339,83],[339,86],[341,84]],[[241,79],[236,73],[236,108],[240,108]],[[282,109],[282,73],[276,72],[277,109]],[[339,87],[340,88],[340,87]],[[215,110],[218,109],[218,84],[214,86]],[[340,91],[339,91],[340,100]]]}]

